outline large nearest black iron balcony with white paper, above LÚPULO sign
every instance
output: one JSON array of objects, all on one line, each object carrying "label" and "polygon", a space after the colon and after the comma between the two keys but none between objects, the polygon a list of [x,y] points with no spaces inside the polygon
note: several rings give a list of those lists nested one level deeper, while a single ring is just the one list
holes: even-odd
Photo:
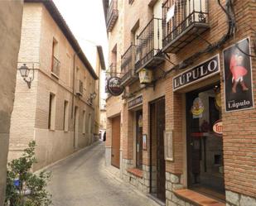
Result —
[{"label": "large nearest black iron balcony with white paper, above L\u00daPULO sign", "polygon": [[[163,51],[176,53],[209,28],[207,2],[167,0],[163,3]],[[171,8],[174,15],[168,18]]]}]

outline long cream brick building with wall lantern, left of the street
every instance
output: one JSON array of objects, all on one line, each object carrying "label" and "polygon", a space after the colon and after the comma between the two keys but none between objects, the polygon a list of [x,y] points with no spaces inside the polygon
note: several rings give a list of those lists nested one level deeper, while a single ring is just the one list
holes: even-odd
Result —
[{"label": "long cream brick building with wall lantern, left of the street", "polygon": [[51,0],[24,3],[17,69],[22,66],[31,69],[32,81],[29,88],[17,71],[9,159],[35,140],[38,170],[95,141],[99,80]]}]

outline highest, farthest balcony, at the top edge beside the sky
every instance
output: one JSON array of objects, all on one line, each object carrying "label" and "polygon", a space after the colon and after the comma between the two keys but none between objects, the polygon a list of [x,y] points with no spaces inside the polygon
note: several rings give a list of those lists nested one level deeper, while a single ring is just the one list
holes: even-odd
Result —
[{"label": "highest, farthest balcony, at the top edge beside the sky", "polygon": [[115,22],[118,19],[118,0],[112,0],[107,13],[107,31],[112,31]]}]

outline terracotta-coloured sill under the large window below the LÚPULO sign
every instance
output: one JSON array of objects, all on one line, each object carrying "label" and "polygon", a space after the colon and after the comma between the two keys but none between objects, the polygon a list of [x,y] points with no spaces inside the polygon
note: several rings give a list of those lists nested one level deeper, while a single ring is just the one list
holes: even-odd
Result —
[{"label": "terracotta-coloured sill under the large window below the L\u00daPULO sign", "polygon": [[179,198],[184,199],[191,204],[195,204],[196,206],[225,206],[224,203],[216,199],[211,199],[191,189],[176,189],[173,193]]}]

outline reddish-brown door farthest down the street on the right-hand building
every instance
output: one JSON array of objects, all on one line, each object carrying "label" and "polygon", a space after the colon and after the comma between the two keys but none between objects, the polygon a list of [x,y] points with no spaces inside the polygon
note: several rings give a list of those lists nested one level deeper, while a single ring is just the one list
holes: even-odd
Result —
[{"label": "reddish-brown door farthest down the street on the right-hand building", "polygon": [[120,167],[120,116],[112,119],[111,165]]}]

